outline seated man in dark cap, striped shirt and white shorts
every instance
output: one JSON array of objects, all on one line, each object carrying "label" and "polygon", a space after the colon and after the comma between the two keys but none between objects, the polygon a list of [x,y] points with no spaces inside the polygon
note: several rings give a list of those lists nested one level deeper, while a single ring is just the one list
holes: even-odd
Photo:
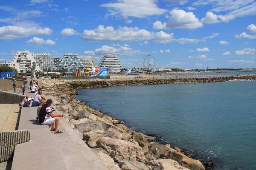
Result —
[{"label": "seated man in dark cap, striped shirt and white shorts", "polygon": [[58,124],[60,122],[59,117],[63,117],[61,114],[55,115],[52,113],[52,109],[50,108],[52,105],[52,99],[48,99],[46,104],[42,106],[39,112],[39,123],[41,125],[50,125],[55,123],[54,133],[63,133],[58,130]]}]

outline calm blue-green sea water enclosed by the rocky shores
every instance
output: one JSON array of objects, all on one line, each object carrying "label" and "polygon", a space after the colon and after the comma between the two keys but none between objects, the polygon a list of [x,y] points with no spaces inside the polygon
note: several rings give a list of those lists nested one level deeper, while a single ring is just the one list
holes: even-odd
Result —
[{"label": "calm blue-green sea water enclosed by the rocky shores", "polygon": [[217,170],[256,170],[256,81],[82,89],[94,109],[177,147],[215,160]]}]

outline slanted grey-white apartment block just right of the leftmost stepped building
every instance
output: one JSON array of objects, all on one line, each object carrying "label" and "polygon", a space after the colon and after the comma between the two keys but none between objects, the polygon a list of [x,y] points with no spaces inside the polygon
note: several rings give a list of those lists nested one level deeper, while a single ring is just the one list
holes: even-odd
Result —
[{"label": "slanted grey-white apartment block just right of the leftmost stepped building", "polygon": [[34,53],[32,54],[35,61],[38,63],[38,66],[41,70],[47,69],[47,70],[55,70],[55,65],[47,53]]}]

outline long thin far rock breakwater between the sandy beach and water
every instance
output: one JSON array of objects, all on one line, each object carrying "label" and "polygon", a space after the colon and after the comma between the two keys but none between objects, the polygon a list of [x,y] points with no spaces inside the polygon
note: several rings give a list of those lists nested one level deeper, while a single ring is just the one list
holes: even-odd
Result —
[{"label": "long thin far rock breakwater between the sandy beach and water", "polygon": [[234,79],[256,80],[256,75],[249,76],[227,76],[227,77],[205,77],[205,78],[180,78],[180,79],[145,79],[145,80],[115,80],[115,81],[72,81],[69,84],[75,89],[102,88],[119,85],[157,85],[168,83],[207,83],[226,82]]}]

